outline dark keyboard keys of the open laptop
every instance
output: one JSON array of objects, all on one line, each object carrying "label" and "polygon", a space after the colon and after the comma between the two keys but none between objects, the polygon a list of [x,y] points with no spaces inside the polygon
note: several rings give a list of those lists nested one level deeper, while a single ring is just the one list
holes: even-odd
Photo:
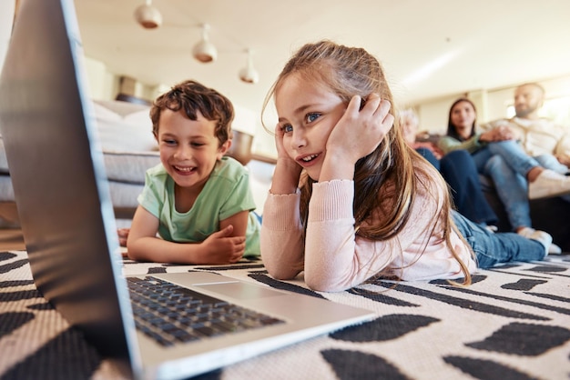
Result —
[{"label": "dark keyboard keys of the open laptop", "polygon": [[160,345],[283,323],[156,277],[127,277],[137,329]]}]

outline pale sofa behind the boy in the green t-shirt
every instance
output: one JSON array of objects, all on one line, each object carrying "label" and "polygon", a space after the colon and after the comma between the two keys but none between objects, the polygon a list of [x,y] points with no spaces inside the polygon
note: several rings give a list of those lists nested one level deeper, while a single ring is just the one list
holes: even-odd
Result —
[{"label": "pale sofa behind the boy in the green t-shirt", "polygon": [[[93,101],[97,135],[103,151],[111,201],[117,219],[129,220],[137,208],[137,195],[145,184],[145,172],[158,165],[158,144],[152,135],[149,105],[126,101]],[[228,155],[250,171],[250,183],[260,214],[269,191],[274,165],[251,160],[252,136],[234,131]],[[14,190],[0,136],[0,227],[17,227]]]}]

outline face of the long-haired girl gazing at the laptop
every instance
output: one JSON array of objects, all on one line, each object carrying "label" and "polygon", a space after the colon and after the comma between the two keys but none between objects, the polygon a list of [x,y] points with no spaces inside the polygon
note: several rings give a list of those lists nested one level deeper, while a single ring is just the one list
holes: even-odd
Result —
[{"label": "face of the long-haired girl gazing at the laptop", "polygon": [[327,140],[346,103],[328,87],[293,74],[276,91],[275,105],[287,155],[319,181]]}]

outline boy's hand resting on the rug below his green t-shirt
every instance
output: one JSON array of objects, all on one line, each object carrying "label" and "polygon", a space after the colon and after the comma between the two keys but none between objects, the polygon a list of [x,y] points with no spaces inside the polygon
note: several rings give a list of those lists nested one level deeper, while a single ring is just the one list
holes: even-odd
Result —
[{"label": "boy's hand resting on the rug below his green t-shirt", "polygon": [[212,235],[202,243],[206,247],[205,263],[229,264],[237,263],[246,249],[245,236],[231,236],[233,225],[228,225]]}]

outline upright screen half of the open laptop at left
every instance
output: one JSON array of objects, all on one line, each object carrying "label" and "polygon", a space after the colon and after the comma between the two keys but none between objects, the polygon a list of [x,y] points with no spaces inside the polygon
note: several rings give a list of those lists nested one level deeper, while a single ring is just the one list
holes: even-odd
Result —
[{"label": "upright screen half of the open laptop at left", "polygon": [[127,358],[130,305],[117,296],[128,299],[82,56],[71,0],[21,2],[0,131],[37,288],[102,353]]}]

